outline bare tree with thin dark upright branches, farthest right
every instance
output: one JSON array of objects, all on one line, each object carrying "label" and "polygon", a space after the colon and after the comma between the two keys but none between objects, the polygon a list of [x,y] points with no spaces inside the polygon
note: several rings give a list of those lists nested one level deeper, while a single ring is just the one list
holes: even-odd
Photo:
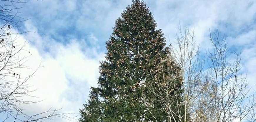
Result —
[{"label": "bare tree with thin dark upright branches, farthest right", "polygon": [[[214,47],[208,54],[209,71],[207,82],[211,84],[212,99],[219,114],[217,121],[245,121],[248,113],[254,110],[254,95],[250,95],[246,75],[241,68],[241,54],[229,52],[226,36],[218,31],[210,32]],[[232,55],[233,54],[233,55]]]}]

